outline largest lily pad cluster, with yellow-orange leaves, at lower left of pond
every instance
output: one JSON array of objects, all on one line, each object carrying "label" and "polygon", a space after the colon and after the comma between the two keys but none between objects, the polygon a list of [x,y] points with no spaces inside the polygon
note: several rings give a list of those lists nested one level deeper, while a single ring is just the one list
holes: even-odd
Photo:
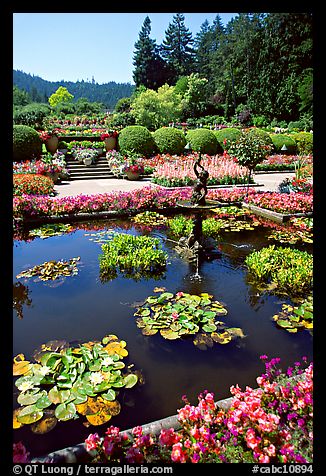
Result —
[{"label": "largest lily pad cluster, with yellow-orange leaves, at lower left of pond", "polygon": [[138,381],[128,368],[123,372],[127,355],[126,342],[112,334],[77,347],[64,341],[43,344],[34,353],[35,363],[17,355],[13,375],[18,377],[20,407],[14,410],[13,428],[31,425],[33,432],[43,434],[78,414],[91,425],[108,422],[120,412],[119,389]]}]

